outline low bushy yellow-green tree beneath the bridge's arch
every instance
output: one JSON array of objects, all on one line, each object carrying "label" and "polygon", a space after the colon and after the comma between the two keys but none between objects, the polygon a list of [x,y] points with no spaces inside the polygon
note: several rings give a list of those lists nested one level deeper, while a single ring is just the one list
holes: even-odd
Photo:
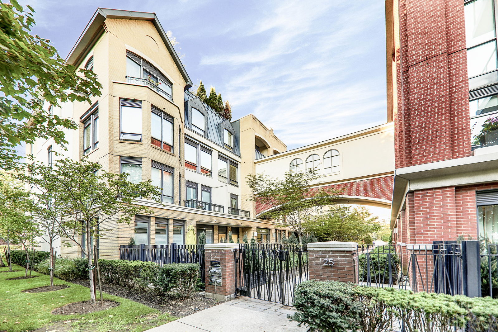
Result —
[{"label": "low bushy yellow-green tree beneath the bridge's arch", "polygon": [[333,205],[328,212],[304,222],[303,227],[320,241],[372,243],[382,225],[364,206]]}]

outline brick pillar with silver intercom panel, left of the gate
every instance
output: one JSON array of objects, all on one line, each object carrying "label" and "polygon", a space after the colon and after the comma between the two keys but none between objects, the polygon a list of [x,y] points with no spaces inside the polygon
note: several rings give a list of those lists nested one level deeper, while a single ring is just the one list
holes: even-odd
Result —
[{"label": "brick pillar with silver intercom panel, left of the gate", "polygon": [[[238,248],[238,243],[216,243],[204,246],[206,298],[220,301],[233,300],[235,294],[234,249]],[[218,267],[218,262],[221,268],[221,285],[213,285],[210,282],[213,279],[213,276],[210,276],[210,267]]]}]

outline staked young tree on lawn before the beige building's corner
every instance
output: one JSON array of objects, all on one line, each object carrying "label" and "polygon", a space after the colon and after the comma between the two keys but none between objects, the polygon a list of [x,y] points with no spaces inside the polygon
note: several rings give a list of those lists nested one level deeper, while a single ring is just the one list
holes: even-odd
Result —
[{"label": "staked young tree on lawn before the beige building's corner", "polygon": [[[78,245],[88,259],[92,304],[95,304],[92,238],[103,237],[109,231],[106,224],[129,224],[133,215],[151,213],[148,207],[136,204],[135,198],[159,195],[150,180],[133,183],[127,179],[127,173],[111,173],[101,167],[85,159],[81,162],[63,159],[55,162],[52,169],[37,167],[31,170],[50,183],[47,187],[57,190],[60,206],[67,209],[61,226],[64,236]],[[84,234],[84,243],[79,240],[80,234]]]}]

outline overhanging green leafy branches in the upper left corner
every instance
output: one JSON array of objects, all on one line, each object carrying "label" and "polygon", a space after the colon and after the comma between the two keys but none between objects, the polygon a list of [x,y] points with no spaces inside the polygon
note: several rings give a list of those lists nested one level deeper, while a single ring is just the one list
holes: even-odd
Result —
[{"label": "overhanging green leafy branches in the upper left corner", "polygon": [[33,9],[10,0],[0,3],[0,167],[15,168],[21,158],[16,146],[36,138],[67,143],[63,128],[76,129],[70,119],[51,114],[53,106],[100,96],[101,85],[89,70],[79,70],[62,59],[48,39],[31,34]]}]

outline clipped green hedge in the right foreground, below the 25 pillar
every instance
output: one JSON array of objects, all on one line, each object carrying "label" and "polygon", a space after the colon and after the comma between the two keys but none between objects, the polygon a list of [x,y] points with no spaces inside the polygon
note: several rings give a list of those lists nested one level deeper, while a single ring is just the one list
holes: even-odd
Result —
[{"label": "clipped green hedge in the right foreground, below the 25 pillar", "polygon": [[407,331],[498,331],[498,301],[435,293],[413,293],[336,281],[305,281],[294,295],[290,316],[309,331],[385,331],[394,322],[409,322]]}]

